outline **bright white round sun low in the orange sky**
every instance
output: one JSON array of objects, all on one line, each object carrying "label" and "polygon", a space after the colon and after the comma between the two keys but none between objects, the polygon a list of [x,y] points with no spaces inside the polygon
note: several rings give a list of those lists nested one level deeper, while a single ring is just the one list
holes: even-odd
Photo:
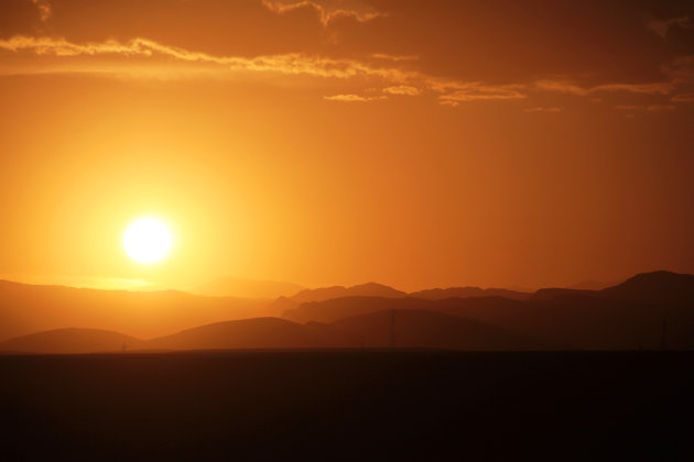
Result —
[{"label": "bright white round sun low in the orange sky", "polygon": [[171,250],[171,243],[169,228],[154,218],[133,221],[123,234],[126,252],[140,263],[159,262]]}]

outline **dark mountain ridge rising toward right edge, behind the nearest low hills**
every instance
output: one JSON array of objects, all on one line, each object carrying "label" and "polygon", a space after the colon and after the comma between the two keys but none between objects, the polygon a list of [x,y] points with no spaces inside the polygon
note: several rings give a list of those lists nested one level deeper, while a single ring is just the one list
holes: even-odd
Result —
[{"label": "dark mountain ridge rising toward right edge, behind the nearest low hills", "polygon": [[690,349],[693,293],[694,276],[655,272],[603,290],[541,289],[528,300],[344,297],[301,304],[284,316],[336,322],[382,310],[434,310],[571,349]]}]

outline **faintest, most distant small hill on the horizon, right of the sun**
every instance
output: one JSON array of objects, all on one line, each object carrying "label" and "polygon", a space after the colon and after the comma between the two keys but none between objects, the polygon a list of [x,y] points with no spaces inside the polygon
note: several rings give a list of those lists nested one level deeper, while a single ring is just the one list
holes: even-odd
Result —
[{"label": "faintest, most distant small hill on the horizon, right of the sun", "polygon": [[208,297],[241,297],[241,298],[278,298],[292,296],[304,287],[299,284],[275,282],[275,280],[253,280],[238,277],[219,277],[203,284],[191,290],[192,294],[205,295]]}]

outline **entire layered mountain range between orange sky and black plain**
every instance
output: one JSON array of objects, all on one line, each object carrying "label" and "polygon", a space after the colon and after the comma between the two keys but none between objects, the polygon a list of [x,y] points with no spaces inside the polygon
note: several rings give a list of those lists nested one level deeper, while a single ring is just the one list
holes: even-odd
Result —
[{"label": "entire layered mountain range between orange sky and black plain", "polygon": [[[636,275],[600,290],[545,288],[534,294],[466,287],[405,294],[379,284],[335,286],[302,290],[269,306],[172,292],[15,283],[1,283],[0,297],[2,332],[20,332],[0,343],[6,352],[694,348],[694,276],[670,272]],[[282,318],[262,315],[276,312],[281,304],[289,307]],[[66,329],[61,322],[84,329]],[[124,328],[104,327],[109,323]],[[195,323],[199,327],[189,328]]]}]

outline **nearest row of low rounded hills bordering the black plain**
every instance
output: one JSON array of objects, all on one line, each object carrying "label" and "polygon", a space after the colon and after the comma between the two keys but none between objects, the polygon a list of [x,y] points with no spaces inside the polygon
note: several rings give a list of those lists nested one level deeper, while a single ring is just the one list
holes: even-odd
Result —
[{"label": "nearest row of low rounded hills bordering the black plain", "polygon": [[172,336],[139,340],[98,329],[57,329],[0,343],[0,352],[99,353],[170,350],[410,348],[453,350],[538,350],[522,336],[452,315],[387,310],[332,324],[300,324],[279,318],[215,322]]}]

